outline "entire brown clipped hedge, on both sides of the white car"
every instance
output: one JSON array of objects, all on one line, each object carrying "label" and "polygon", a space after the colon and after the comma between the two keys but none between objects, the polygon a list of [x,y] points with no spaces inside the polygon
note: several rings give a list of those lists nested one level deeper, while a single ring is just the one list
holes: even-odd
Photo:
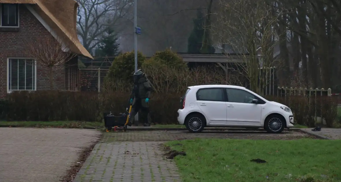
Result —
[{"label": "entire brown clipped hedge, on both sides of the white car", "polygon": [[[13,92],[6,101],[0,101],[0,116],[7,121],[102,121],[103,112],[112,111],[115,115],[124,112],[129,95],[127,92]],[[152,122],[177,124],[180,96],[152,93],[149,104]],[[266,96],[266,99],[290,107],[297,124],[315,126],[315,111],[316,116],[322,116],[326,126],[336,124],[338,101],[331,97],[309,100],[303,96]]]}]

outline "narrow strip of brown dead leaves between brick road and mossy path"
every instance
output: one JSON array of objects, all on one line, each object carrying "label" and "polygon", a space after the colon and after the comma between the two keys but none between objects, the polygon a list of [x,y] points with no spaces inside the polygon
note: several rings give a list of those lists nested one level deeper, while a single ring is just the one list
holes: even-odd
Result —
[{"label": "narrow strip of brown dead leaves between brick road and mossy path", "polygon": [[102,135],[96,140],[94,141],[91,146],[84,148],[81,152],[80,155],[78,157],[77,162],[75,162],[73,165],[71,165],[71,168],[69,170],[67,170],[67,173],[65,176],[62,177],[62,179],[60,180],[61,182],[72,182],[79,169],[83,166],[83,164],[85,163],[85,161],[87,160],[87,158],[89,157],[92,149],[95,147],[95,145],[102,139]]}]

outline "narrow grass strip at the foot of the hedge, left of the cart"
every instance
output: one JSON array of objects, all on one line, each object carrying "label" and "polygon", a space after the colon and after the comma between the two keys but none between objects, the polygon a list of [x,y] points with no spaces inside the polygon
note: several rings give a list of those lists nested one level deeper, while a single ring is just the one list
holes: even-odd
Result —
[{"label": "narrow grass strip at the foot of the hedge, left of the cart", "polygon": [[104,126],[104,123],[80,121],[0,121],[0,125],[20,127],[100,128]]}]

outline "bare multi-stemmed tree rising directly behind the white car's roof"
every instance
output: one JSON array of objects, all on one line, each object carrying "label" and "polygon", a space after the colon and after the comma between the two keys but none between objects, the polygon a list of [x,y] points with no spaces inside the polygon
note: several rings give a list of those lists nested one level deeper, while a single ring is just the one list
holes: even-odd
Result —
[{"label": "bare multi-stemmed tree rising directly behind the white car's roof", "polygon": [[212,24],[215,39],[232,46],[242,60],[236,63],[237,71],[249,80],[251,90],[263,94],[270,69],[261,68],[275,66],[274,41],[285,32],[274,27],[283,11],[264,0],[220,0],[219,7]]}]

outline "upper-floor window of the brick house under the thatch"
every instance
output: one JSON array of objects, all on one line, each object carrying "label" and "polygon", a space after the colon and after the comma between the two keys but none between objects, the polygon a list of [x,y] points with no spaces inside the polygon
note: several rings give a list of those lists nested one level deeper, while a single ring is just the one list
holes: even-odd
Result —
[{"label": "upper-floor window of the brick house under the thatch", "polygon": [[19,27],[18,4],[0,4],[0,27]]}]

